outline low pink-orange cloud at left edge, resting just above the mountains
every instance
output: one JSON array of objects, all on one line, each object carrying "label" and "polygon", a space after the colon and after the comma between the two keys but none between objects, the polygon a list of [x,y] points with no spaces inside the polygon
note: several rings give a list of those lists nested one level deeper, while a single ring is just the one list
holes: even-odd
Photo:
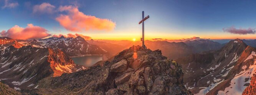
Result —
[{"label": "low pink-orange cloud at left edge, resting just above the mountains", "polygon": [[46,30],[45,28],[34,26],[33,24],[28,24],[26,28],[15,25],[9,30],[3,30],[1,32],[1,36],[7,36],[15,40],[38,39],[45,38],[50,35],[51,34],[49,34],[48,30]]}]

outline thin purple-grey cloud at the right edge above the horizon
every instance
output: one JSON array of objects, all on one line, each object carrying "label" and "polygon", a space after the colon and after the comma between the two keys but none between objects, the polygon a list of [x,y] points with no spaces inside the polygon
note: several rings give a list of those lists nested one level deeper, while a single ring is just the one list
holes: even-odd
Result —
[{"label": "thin purple-grey cloud at the right edge above the horizon", "polygon": [[240,34],[240,35],[246,35],[246,34],[255,34],[254,28],[239,28],[236,29],[234,26],[228,27],[228,28],[222,28],[223,32],[233,33],[233,34]]}]

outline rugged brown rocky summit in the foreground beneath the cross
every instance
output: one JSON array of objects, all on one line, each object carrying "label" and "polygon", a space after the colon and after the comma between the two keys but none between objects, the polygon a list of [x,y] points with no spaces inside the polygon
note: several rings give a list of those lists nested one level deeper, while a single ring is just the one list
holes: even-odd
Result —
[{"label": "rugged brown rocky summit in the foreground beneath the cross", "polygon": [[[75,73],[42,79],[31,94],[191,95],[182,67],[161,51],[132,46],[112,60]],[[23,92],[25,93],[25,92]]]}]

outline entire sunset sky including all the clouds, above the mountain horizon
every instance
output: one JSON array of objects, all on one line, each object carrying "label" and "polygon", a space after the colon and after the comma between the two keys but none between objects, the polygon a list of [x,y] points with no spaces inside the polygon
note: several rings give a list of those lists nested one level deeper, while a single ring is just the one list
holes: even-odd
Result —
[{"label": "entire sunset sky including all the clouds, above the mountain horizon", "polygon": [[1,36],[139,40],[256,39],[253,0],[0,0]]}]

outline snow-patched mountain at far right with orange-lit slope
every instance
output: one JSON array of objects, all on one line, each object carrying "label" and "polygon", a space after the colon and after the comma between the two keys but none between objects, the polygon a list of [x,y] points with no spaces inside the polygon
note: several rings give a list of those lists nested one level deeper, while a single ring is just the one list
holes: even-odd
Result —
[{"label": "snow-patched mountain at far right with orange-lit slope", "polygon": [[[256,49],[231,40],[218,51],[177,59],[185,71],[185,86],[194,94],[253,93]],[[251,85],[251,86],[249,86]]]}]

